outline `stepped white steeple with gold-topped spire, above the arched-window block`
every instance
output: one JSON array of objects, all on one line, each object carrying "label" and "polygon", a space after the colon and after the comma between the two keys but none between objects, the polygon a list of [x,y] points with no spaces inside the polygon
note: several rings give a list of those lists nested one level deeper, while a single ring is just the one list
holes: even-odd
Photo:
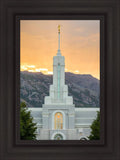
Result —
[{"label": "stepped white steeple with gold-topped spire, above the arched-window block", "polygon": [[45,96],[45,105],[73,105],[73,98],[68,96],[65,84],[65,57],[60,52],[60,25],[58,25],[58,52],[53,57],[53,84],[50,85],[49,96]]}]

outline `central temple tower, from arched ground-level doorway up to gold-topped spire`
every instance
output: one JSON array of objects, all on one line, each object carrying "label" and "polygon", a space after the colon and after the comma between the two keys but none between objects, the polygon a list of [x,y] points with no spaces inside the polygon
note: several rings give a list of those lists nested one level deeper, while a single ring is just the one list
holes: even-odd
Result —
[{"label": "central temple tower, from arched ground-level doorway up to gold-topped spire", "polygon": [[58,51],[53,57],[53,84],[50,85],[49,96],[44,99],[42,113],[46,139],[49,135],[50,139],[71,139],[72,134],[67,131],[71,129],[73,133],[74,114],[73,97],[68,96],[68,86],[65,85],[65,58],[61,55],[58,25]]}]

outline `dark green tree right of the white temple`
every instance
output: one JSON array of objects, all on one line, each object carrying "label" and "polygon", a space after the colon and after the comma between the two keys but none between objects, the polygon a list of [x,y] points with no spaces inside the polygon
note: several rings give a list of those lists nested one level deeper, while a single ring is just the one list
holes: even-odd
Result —
[{"label": "dark green tree right of the white temple", "polygon": [[91,134],[88,137],[90,140],[99,140],[100,139],[100,112],[97,112],[97,117],[90,126]]}]

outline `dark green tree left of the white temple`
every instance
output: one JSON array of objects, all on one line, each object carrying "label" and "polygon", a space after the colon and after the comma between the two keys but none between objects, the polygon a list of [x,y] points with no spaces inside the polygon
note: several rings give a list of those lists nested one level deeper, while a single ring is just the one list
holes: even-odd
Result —
[{"label": "dark green tree left of the white temple", "polygon": [[22,140],[36,139],[36,123],[33,123],[30,111],[27,110],[25,102],[20,104],[20,138]]}]

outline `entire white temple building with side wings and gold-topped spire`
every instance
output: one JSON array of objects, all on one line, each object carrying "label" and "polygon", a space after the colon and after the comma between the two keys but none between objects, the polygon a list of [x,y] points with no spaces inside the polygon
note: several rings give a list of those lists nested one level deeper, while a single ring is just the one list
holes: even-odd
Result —
[{"label": "entire white temple building with side wings and gold-topped spire", "polygon": [[58,26],[58,51],[53,57],[53,84],[42,108],[29,108],[37,123],[38,140],[88,139],[90,125],[99,108],[75,108],[73,97],[68,96],[65,84],[65,57],[60,51],[60,26]]}]

